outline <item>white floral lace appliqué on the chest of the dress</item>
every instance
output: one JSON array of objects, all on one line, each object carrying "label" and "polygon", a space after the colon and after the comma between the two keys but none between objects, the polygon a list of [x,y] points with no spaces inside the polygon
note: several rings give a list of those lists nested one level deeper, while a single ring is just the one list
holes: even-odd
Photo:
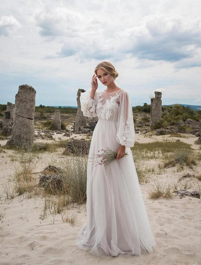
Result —
[{"label": "white floral lace appliqu\u00e9 on the chest of the dress", "polygon": [[100,95],[96,107],[97,116],[100,117],[102,120],[109,120],[114,110],[119,107],[119,104],[116,102],[118,98],[119,94],[116,93],[116,96],[110,96],[110,99],[106,99],[106,102],[103,104],[103,98],[101,98]]}]

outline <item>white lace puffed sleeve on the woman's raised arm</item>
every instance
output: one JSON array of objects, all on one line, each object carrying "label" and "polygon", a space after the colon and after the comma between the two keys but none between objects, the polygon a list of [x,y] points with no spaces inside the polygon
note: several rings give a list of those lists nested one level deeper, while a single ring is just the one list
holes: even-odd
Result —
[{"label": "white lace puffed sleeve on the woman's raised arm", "polygon": [[80,94],[80,105],[83,115],[86,117],[96,117],[96,103],[97,103],[97,94],[96,90],[94,99],[90,97],[91,90],[87,90]]}]

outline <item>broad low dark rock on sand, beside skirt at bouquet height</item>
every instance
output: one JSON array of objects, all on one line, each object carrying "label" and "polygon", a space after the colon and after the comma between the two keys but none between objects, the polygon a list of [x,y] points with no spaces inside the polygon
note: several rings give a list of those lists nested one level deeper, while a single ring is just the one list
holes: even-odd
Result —
[{"label": "broad low dark rock on sand, beside skirt at bouquet height", "polygon": [[65,151],[63,154],[84,155],[89,153],[90,142],[85,140],[73,139],[65,143]]}]

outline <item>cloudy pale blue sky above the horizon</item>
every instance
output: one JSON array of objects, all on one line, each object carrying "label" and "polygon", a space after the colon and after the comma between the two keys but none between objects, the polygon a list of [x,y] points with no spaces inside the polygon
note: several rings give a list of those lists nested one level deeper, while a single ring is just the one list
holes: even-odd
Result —
[{"label": "cloudy pale blue sky above the horizon", "polygon": [[36,106],[77,106],[109,61],[132,106],[154,91],[162,104],[201,105],[200,14],[200,0],[1,0],[0,104],[27,84]]}]

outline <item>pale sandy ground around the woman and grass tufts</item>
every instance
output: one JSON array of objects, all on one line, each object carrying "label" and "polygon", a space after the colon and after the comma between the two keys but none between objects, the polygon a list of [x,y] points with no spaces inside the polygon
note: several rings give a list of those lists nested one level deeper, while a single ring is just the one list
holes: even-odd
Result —
[{"label": "pale sandy ground around the woman and grass tufts", "polygon": [[[83,138],[84,135],[72,135]],[[188,135],[185,135],[188,136]],[[55,140],[69,139],[60,134],[53,136]],[[86,135],[84,136],[86,137]],[[178,139],[163,136],[148,136],[136,134],[139,143]],[[194,144],[195,136],[180,138],[180,141],[192,145],[196,152],[201,152]],[[51,142],[52,140],[37,140],[36,142]],[[7,140],[1,140],[4,145]],[[43,153],[38,157],[34,172],[42,171],[46,166],[67,159],[62,155],[63,149],[54,153]],[[183,197],[173,193],[171,199],[160,198],[150,200],[148,191],[156,179],[163,183],[173,183],[186,173],[201,173],[201,163],[194,169],[186,168],[177,173],[176,169],[168,169],[165,174],[151,175],[149,181],[141,185],[151,229],[156,239],[157,248],[153,253],[140,256],[119,255],[118,257],[96,257],[88,251],[75,247],[77,233],[86,219],[86,204],[73,205],[69,210],[77,214],[74,225],[64,223],[62,216],[52,214],[41,220],[44,198],[42,196],[15,195],[13,199],[6,199],[6,189],[12,190],[13,183],[9,179],[14,175],[18,162],[13,161],[15,152],[6,150],[0,153],[0,264],[1,265],[68,265],[68,264],[156,264],[156,265],[192,265],[201,264],[201,200]],[[152,165],[155,161],[150,161]],[[58,165],[58,164],[57,164]],[[59,165],[58,165],[59,166]],[[198,180],[192,180],[196,187]],[[199,182],[200,184],[200,182]],[[201,187],[201,185],[200,185]],[[53,223],[54,219],[54,223]],[[194,265],[195,265],[194,264]]]}]

